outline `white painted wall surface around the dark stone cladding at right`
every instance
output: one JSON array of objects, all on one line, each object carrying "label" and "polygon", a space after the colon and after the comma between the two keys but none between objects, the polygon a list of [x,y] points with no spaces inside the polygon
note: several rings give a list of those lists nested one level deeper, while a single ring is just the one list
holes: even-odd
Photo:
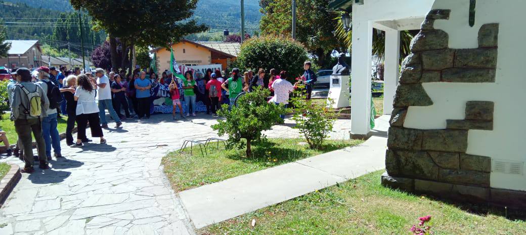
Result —
[{"label": "white painted wall surface around the dark stone cladding at right", "polygon": [[491,172],[490,185],[526,191],[526,125],[523,123],[526,116],[526,31],[522,19],[526,1],[478,0],[473,27],[468,24],[468,0],[437,0],[433,8],[452,9],[449,20],[434,23],[434,28],[449,34],[450,48],[477,48],[479,28],[483,24],[499,23],[495,83],[423,83],[433,105],[409,107],[404,127],[444,129],[447,119],[465,118],[466,102],[494,102],[493,131],[470,130],[467,153],[521,164],[522,174]]}]

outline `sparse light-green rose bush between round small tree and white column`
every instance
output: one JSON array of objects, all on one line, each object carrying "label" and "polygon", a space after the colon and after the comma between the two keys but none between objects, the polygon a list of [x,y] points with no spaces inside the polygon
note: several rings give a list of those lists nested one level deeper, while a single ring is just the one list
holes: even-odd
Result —
[{"label": "sparse light-green rose bush between round small tree and white column", "polygon": [[292,104],[295,107],[292,120],[296,122],[295,128],[305,136],[311,149],[321,149],[323,140],[332,131],[338,115],[332,109],[332,103],[332,100],[329,100],[328,105],[313,103],[312,100],[306,100],[305,94],[299,91],[296,91],[292,97]]}]

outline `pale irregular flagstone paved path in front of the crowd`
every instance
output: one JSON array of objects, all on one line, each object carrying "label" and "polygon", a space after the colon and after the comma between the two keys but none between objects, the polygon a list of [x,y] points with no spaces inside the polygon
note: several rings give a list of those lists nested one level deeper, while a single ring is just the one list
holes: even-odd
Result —
[{"label": "pale irregular flagstone paved path in front of the crowd", "polygon": [[[106,129],[107,144],[97,138],[71,149],[62,141],[65,159],[50,161],[50,170],[22,174],[0,209],[0,234],[194,234],[160,162],[185,139],[217,137],[214,123],[205,115],[185,122],[153,115]],[[299,136],[291,126],[287,121],[266,134]],[[332,138],[348,139],[349,128],[350,120],[338,120]],[[14,157],[0,161],[23,165]]]}]

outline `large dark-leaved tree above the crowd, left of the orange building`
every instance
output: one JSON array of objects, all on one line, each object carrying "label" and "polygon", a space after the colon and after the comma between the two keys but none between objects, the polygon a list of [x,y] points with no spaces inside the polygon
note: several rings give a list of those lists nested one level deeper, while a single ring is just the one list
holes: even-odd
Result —
[{"label": "large dark-leaved tree above the crowd, left of the orange building", "polygon": [[[93,17],[96,29],[108,33],[113,68],[129,67],[129,52],[135,45],[168,46],[187,34],[207,29],[195,20],[188,20],[197,0],[70,1],[75,9],[87,10]],[[120,63],[116,58],[116,38],[122,43],[121,54],[124,55]]]}]

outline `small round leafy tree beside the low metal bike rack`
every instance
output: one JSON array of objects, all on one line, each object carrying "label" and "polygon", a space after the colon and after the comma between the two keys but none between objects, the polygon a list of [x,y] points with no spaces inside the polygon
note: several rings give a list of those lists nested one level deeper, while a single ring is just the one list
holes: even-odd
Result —
[{"label": "small round leafy tree beside the low metal bike rack", "polygon": [[219,123],[212,125],[212,129],[218,131],[220,136],[228,134],[229,146],[238,145],[241,149],[244,147],[241,139],[245,139],[246,156],[251,156],[251,142],[261,138],[262,131],[282,122],[279,115],[287,111],[283,105],[268,103],[269,95],[268,90],[257,89],[239,97],[238,106],[232,106],[231,111],[228,111],[227,105],[223,105],[218,115],[225,120],[218,120]]}]

